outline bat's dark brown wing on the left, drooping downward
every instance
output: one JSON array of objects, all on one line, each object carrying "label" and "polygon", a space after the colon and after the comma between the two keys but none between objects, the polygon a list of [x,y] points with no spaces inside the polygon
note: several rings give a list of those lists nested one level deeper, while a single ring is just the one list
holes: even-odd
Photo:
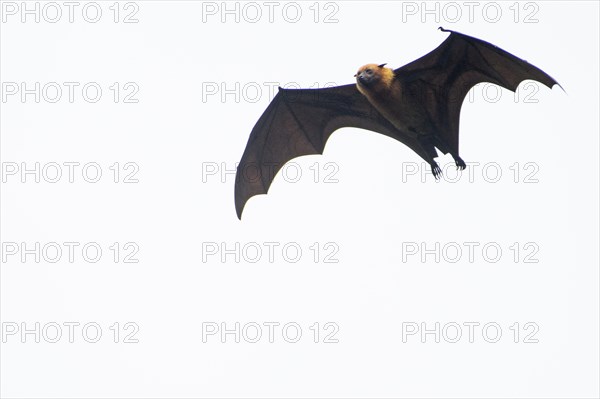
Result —
[{"label": "bat's dark brown wing on the left, drooping downward", "polygon": [[237,168],[238,218],[250,197],[267,193],[286,162],[302,155],[322,154],[331,133],[342,127],[385,134],[425,156],[418,142],[381,116],[353,84],[325,89],[280,88],[252,129]]}]

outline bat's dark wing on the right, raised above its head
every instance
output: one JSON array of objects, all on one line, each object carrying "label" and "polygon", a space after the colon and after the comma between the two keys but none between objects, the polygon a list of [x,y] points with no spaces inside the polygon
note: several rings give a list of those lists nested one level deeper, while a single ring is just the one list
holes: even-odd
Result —
[{"label": "bat's dark wing on the right, raised above its head", "polygon": [[447,148],[458,154],[460,108],[468,91],[490,82],[515,91],[523,80],[537,80],[552,88],[558,84],[544,71],[493,44],[458,32],[429,54],[394,71],[405,95],[424,105],[437,134]]}]

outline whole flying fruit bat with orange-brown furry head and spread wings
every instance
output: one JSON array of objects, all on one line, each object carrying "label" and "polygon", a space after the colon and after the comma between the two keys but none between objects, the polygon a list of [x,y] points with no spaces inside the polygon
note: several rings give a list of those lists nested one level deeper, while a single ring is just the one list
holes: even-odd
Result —
[{"label": "whole flying fruit bat with orange-brown furry head and spread wings", "polygon": [[371,130],[411,148],[441,169],[436,148],[450,153],[457,168],[460,109],[468,91],[490,82],[515,91],[531,79],[552,88],[548,74],[483,40],[439,28],[450,35],[429,54],[398,69],[367,64],[356,84],[322,89],[282,89],[262,114],[236,171],[238,218],[248,199],[266,194],[277,171],[293,158],[322,154],[331,133],[342,127]]}]

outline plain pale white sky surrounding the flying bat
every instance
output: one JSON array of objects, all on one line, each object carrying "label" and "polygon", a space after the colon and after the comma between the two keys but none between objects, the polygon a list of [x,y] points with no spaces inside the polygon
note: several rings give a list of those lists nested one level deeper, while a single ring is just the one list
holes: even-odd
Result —
[{"label": "plain pale white sky surrounding the flying bat", "polygon": [[[283,2],[273,23],[262,2],[256,23],[248,20],[254,14],[203,21],[201,2],[135,4],[134,24],[112,21],[112,2],[101,3],[98,23],[77,12],[73,23],[65,16],[21,23],[19,15],[2,23],[2,82],[103,88],[97,103],[76,90],[73,103],[12,96],[1,104],[5,167],[96,162],[103,172],[95,184],[78,174],[73,183],[21,183],[17,175],[2,185],[3,243],[103,249],[97,263],[76,251],[73,263],[15,255],[2,264],[5,328],[94,322],[103,331],[95,344],[80,330],[73,343],[4,337],[3,397],[598,397],[598,3],[481,2],[472,21],[462,2],[453,3],[461,18],[454,5],[427,3],[438,7],[437,21],[421,2],[320,3],[317,23],[312,2],[299,3],[297,23],[283,18]],[[211,4],[222,11],[221,2]],[[134,9],[125,6],[120,19]],[[324,23],[333,11],[337,23]],[[235,167],[269,103],[265,84],[346,84],[365,63],[399,67],[445,39],[440,25],[527,59],[565,88],[538,85],[535,101],[501,90],[495,102],[473,89],[461,114],[461,155],[499,168],[496,183],[481,166],[456,183],[452,167],[439,183],[426,172],[403,175],[424,169],[416,154],[343,129],[323,156],[294,160],[296,169],[236,218],[234,175],[203,171]],[[114,82],[137,84],[139,102],[114,103]],[[239,101],[206,93],[236,83]],[[257,86],[260,95],[242,92]],[[139,182],[113,183],[115,162],[135,163]],[[327,183],[331,171],[337,182]],[[526,182],[531,171],[537,182]],[[115,242],[135,243],[139,262],[115,263]],[[242,249],[239,262],[203,253],[206,243],[266,251],[265,242],[278,245],[273,262],[266,252],[256,262]],[[465,242],[479,245],[473,261],[404,252],[410,243],[464,249]],[[482,255],[488,243],[502,250],[495,263]],[[301,248],[297,262],[282,254],[286,244]],[[337,263],[324,260],[332,248]],[[524,261],[531,248],[537,263]],[[139,342],[114,343],[115,322],[139,326]],[[265,336],[222,343],[218,335],[202,342],[207,322],[294,322],[303,335],[297,343],[281,330],[273,343]],[[339,342],[323,343],[323,335],[313,342],[315,322],[322,334],[335,323]],[[402,340],[403,323],[465,322],[498,323],[502,337],[489,343],[478,329],[471,343],[465,328],[457,343]],[[523,342],[527,322],[539,327],[539,342]]]}]

